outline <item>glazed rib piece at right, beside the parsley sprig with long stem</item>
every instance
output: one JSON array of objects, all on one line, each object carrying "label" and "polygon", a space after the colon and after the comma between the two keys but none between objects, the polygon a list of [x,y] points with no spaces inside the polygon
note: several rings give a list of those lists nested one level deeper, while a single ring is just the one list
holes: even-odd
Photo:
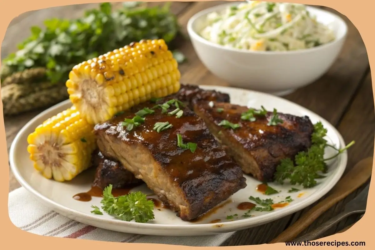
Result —
[{"label": "glazed rib piece at right, beside the parsley sprig with long stem", "polygon": [[[241,114],[249,110],[247,107],[230,103],[213,104],[197,102],[194,111],[205,121],[211,133],[226,146],[226,151],[242,167],[243,172],[260,181],[273,179],[281,159],[293,159],[298,152],[311,146],[314,126],[307,116],[278,113],[283,123],[268,126],[272,112],[264,117],[255,116],[255,121],[248,121],[241,119]],[[219,126],[222,120],[239,124],[240,127],[231,129]]]}]

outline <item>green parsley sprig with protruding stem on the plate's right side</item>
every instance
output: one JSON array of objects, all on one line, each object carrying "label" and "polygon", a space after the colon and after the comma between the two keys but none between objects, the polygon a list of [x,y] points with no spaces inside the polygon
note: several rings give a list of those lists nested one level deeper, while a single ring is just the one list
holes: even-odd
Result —
[{"label": "green parsley sprig with protruding stem on the plate's right side", "polygon": [[327,146],[333,147],[328,145],[326,139],[324,139],[326,134],[327,129],[323,127],[321,122],[314,124],[311,147],[308,151],[298,153],[294,162],[290,158],[282,159],[276,167],[275,181],[283,184],[285,180],[290,180],[292,185],[301,184],[305,188],[314,187],[317,184],[316,179],[324,177],[320,173],[327,172],[326,161],[337,157],[354,144],[354,141],[352,141],[345,148],[336,149],[338,152],[335,156],[324,159],[325,148]]}]

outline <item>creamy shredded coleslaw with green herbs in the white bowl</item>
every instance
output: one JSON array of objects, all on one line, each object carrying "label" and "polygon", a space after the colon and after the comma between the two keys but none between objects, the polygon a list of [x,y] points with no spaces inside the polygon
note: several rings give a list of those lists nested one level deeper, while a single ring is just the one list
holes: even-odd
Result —
[{"label": "creamy shredded coleslaw with green herbs in the white bowl", "polygon": [[335,40],[304,4],[248,1],[207,15],[200,35],[211,42],[252,51],[291,51]]}]

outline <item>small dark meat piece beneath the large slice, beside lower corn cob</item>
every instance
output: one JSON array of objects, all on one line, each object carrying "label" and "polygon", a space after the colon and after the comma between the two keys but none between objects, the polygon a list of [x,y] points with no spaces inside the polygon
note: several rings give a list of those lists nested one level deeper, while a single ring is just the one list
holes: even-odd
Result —
[{"label": "small dark meat piece beneath the large slice, beside lower corn cob", "polygon": [[117,160],[105,157],[99,150],[93,153],[93,167],[96,168],[93,186],[104,189],[110,184],[114,189],[124,189],[133,184],[141,184],[132,172],[126,170]]}]

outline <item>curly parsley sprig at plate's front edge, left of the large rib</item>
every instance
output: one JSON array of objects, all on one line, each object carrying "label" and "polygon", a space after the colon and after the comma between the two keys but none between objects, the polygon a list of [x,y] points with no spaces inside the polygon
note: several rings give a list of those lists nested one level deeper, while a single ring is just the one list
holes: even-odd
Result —
[{"label": "curly parsley sprig at plate's front edge, left of the large rib", "polygon": [[128,195],[114,197],[112,184],[110,184],[103,191],[101,204],[103,204],[102,210],[107,214],[127,222],[134,220],[145,223],[154,219],[154,202],[147,200],[147,196],[142,192],[132,192]]}]

